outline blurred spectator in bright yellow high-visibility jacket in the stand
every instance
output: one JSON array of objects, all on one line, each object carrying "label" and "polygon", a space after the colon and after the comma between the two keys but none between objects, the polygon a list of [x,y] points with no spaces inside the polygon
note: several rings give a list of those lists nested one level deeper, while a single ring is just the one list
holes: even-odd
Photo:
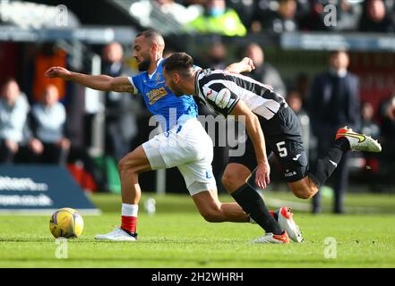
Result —
[{"label": "blurred spectator in bright yellow high-visibility jacket in the stand", "polygon": [[247,32],[236,11],[228,8],[225,0],[207,0],[204,3],[204,13],[190,21],[185,29],[230,37],[243,37]]}]

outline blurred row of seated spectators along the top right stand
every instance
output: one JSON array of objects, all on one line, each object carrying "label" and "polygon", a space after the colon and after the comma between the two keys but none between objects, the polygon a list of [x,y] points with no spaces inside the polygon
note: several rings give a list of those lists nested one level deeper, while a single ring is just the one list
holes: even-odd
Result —
[{"label": "blurred row of seated spectators along the top right stand", "polygon": [[[395,5],[388,0],[157,0],[157,4],[185,30],[197,33],[242,37],[296,30],[395,31]],[[325,24],[331,11],[328,4],[336,8],[336,25]]]}]

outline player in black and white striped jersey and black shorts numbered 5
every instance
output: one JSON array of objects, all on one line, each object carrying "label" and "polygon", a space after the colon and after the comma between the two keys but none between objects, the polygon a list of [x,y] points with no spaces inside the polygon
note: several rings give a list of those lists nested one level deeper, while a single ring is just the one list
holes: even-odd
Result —
[{"label": "player in black and white striped jersey and black shorts numbered 5", "polygon": [[[233,71],[247,70],[245,58],[236,63]],[[238,67],[237,67],[238,64]],[[312,198],[331,176],[345,152],[380,152],[381,145],[374,139],[348,128],[339,129],[330,150],[316,163],[308,166],[302,142],[302,130],[296,114],[284,97],[270,86],[236,72],[193,69],[193,58],[176,53],[167,58],[164,77],[168,88],[176,96],[190,94],[198,97],[212,111],[236,119],[243,116],[248,139],[245,155],[230,157],[222,182],[228,192],[255,219],[266,234],[254,242],[283,242],[287,231],[279,228],[262,198],[255,191],[270,183],[268,156],[274,153],[284,170],[284,178],[297,198]],[[253,160],[254,159],[254,160]],[[296,232],[293,240],[303,240]]]}]

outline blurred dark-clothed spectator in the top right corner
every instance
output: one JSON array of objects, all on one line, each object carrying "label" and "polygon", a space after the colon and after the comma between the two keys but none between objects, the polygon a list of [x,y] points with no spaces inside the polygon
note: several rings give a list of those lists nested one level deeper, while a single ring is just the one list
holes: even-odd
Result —
[{"label": "blurred dark-clothed spectator in the top right corner", "polygon": [[382,0],[367,0],[359,21],[359,30],[364,32],[390,33],[395,31],[391,14],[387,13]]}]

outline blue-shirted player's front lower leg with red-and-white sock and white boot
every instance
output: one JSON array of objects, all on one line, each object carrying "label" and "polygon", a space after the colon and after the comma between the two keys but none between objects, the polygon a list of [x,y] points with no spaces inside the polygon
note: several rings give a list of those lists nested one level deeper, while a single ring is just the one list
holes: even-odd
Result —
[{"label": "blue-shirted player's front lower leg with red-and-white sock and white boot", "polygon": [[137,240],[137,214],[142,190],[139,174],[150,171],[150,162],[142,146],[127,154],[119,161],[118,171],[122,189],[122,225],[107,234],[99,234],[97,240],[135,241]]}]

